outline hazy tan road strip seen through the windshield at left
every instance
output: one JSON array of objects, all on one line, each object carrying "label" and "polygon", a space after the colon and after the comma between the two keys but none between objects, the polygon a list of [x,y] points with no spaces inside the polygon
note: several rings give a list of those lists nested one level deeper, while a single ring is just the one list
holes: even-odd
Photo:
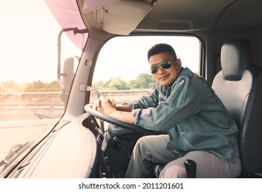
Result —
[{"label": "hazy tan road strip seen through the windshield at left", "polygon": [[59,95],[12,93],[0,96],[0,121],[56,119],[63,115]]}]

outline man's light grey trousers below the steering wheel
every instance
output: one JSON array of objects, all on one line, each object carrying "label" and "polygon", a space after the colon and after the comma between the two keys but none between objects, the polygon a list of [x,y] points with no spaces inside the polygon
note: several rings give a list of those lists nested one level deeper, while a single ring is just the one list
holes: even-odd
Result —
[{"label": "man's light grey trousers below the steering wheel", "polygon": [[241,173],[238,156],[231,162],[220,160],[204,151],[189,152],[179,157],[166,149],[168,141],[168,135],[140,138],[133,149],[125,178],[154,178],[153,164],[166,165],[160,178],[186,178],[186,159],[195,160],[197,163],[197,178],[237,178]]}]

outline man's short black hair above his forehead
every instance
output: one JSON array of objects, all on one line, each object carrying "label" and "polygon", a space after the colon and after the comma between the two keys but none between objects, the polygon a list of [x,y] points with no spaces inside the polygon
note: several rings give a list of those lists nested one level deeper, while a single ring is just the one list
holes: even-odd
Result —
[{"label": "man's short black hair above his forehead", "polygon": [[175,53],[175,50],[171,45],[168,45],[166,43],[155,44],[154,46],[152,46],[151,49],[149,49],[149,51],[147,52],[147,59],[149,60],[151,56],[163,52],[170,53],[174,56],[174,59],[177,60],[177,54]]}]

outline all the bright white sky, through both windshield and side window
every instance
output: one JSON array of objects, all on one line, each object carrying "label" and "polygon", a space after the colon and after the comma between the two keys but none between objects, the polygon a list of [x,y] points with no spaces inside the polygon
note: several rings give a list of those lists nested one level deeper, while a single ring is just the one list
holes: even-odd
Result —
[{"label": "all the bright white sky, through both windshield and side window", "polygon": [[[0,1],[0,82],[51,82],[57,73],[57,36],[61,27],[43,0]],[[21,38],[23,37],[23,38]],[[66,36],[64,36],[65,38]],[[169,43],[177,51],[184,67],[198,71],[198,40],[179,38],[121,38],[111,40],[98,57],[96,80],[135,79],[138,73],[149,73],[146,51],[155,43]],[[65,41],[63,41],[65,43]],[[127,45],[123,48],[123,45]],[[66,56],[80,56],[79,49],[64,49]],[[63,59],[62,59],[63,62]],[[128,72],[128,73],[127,73]]]}]

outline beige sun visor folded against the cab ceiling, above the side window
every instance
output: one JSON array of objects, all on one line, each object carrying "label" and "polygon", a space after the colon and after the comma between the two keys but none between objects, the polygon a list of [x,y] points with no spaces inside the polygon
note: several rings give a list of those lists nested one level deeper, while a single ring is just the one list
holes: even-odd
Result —
[{"label": "beige sun visor folded against the cab ceiling, above the side window", "polygon": [[91,8],[91,4],[89,3],[88,6],[86,2],[87,0],[83,6],[83,12],[92,11],[96,25],[100,29],[120,35],[130,34],[154,5],[152,1],[109,0],[102,3],[100,0]]}]

